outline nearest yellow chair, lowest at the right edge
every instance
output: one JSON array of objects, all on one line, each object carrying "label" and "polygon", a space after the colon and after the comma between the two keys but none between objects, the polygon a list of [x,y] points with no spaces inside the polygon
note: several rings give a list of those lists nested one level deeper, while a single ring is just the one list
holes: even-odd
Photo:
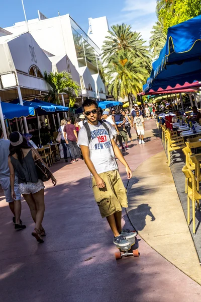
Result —
[{"label": "nearest yellow chair, lowest at the right edge", "polygon": [[[187,223],[190,224],[190,200],[192,201],[192,232],[195,235],[195,201],[201,199],[201,194],[196,188],[196,179],[191,170],[187,166],[182,169],[185,177],[188,179],[188,190],[187,190]],[[197,204],[198,206],[199,204]]]}]

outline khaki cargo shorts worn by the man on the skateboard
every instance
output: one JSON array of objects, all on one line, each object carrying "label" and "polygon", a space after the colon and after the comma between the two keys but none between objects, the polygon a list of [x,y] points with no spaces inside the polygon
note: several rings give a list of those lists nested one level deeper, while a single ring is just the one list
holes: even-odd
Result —
[{"label": "khaki cargo shorts worn by the man on the skateboard", "polygon": [[115,212],[122,211],[122,207],[128,207],[127,190],[124,187],[118,170],[98,174],[106,184],[103,189],[98,189],[94,177],[92,188],[95,201],[99,207],[100,215],[107,217]]}]

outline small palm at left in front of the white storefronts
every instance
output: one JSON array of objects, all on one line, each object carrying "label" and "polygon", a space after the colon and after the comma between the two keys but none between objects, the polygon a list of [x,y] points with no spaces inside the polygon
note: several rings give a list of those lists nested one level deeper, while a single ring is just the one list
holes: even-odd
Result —
[{"label": "small palm at left in front of the white storefronts", "polygon": [[55,104],[60,103],[59,95],[66,93],[69,98],[69,107],[73,107],[76,97],[80,94],[80,86],[72,80],[71,74],[62,72],[44,72],[45,81],[51,86],[47,99]]}]

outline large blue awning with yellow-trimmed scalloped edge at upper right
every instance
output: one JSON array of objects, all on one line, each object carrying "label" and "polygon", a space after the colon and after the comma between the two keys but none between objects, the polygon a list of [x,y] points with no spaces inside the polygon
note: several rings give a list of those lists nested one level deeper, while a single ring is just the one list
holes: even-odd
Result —
[{"label": "large blue awning with yellow-trimmed scalloped edge at upper right", "polygon": [[176,84],[201,81],[201,15],[168,28],[167,41],[153,62],[150,78],[143,86],[150,89],[172,88]]}]

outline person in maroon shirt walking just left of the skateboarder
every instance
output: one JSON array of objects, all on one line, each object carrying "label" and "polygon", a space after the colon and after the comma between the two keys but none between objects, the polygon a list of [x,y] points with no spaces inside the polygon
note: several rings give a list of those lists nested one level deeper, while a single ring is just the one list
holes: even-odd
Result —
[{"label": "person in maroon shirt walking just left of the skateboarder", "polygon": [[[70,163],[75,163],[77,161],[81,161],[80,149],[77,146],[77,141],[78,141],[77,132],[76,132],[75,125],[71,124],[71,119],[69,117],[66,119],[66,121],[67,124],[63,128],[64,138],[66,143],[69,144],[70,146],[70,151],[72,155],[72,161]],[[74,148],[76,150],[77,156],[75,156]]]}]

